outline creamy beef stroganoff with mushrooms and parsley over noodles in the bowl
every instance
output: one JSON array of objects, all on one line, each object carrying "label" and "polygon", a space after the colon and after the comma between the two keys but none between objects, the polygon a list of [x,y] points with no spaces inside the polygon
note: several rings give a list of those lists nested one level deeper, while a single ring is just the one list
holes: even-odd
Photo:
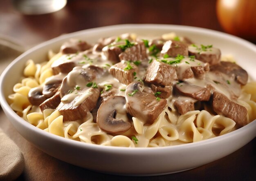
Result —
[{"label": "creamy beef stroganoff with mushrooms and parsley over noodles in the bowl", "polygon": [[196,43],[174,33],[70,39],[49,61],[27,61],[11,108],[52,134],[123,147],[197,142],[253,121],[256,83]]}]

